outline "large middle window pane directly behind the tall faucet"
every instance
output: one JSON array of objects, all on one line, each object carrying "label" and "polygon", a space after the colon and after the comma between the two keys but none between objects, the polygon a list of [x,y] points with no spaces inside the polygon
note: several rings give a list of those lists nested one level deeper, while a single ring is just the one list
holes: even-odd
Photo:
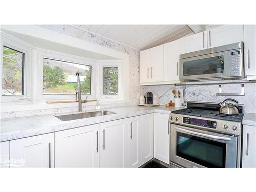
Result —
[{"label": "large middle window pane directly behind the tall faucet", "polygon": [[91,66],[44,58],[43,94],[75,94],[79,72],[82,94],[91,94]]}]

